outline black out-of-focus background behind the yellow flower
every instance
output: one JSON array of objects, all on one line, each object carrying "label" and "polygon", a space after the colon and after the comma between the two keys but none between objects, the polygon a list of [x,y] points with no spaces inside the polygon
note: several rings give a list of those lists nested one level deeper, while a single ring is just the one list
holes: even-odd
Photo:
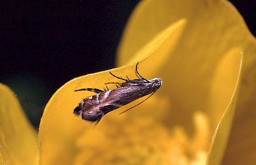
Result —
[{"label": "black out-of-focus background behind the yellow flower", "polygon": [[[0,82],[15,92],[36,128],[44,105],[65,82],[114,67],[138,2],[0,2]],[[255,36],[255,2],[230,2]]]}]

